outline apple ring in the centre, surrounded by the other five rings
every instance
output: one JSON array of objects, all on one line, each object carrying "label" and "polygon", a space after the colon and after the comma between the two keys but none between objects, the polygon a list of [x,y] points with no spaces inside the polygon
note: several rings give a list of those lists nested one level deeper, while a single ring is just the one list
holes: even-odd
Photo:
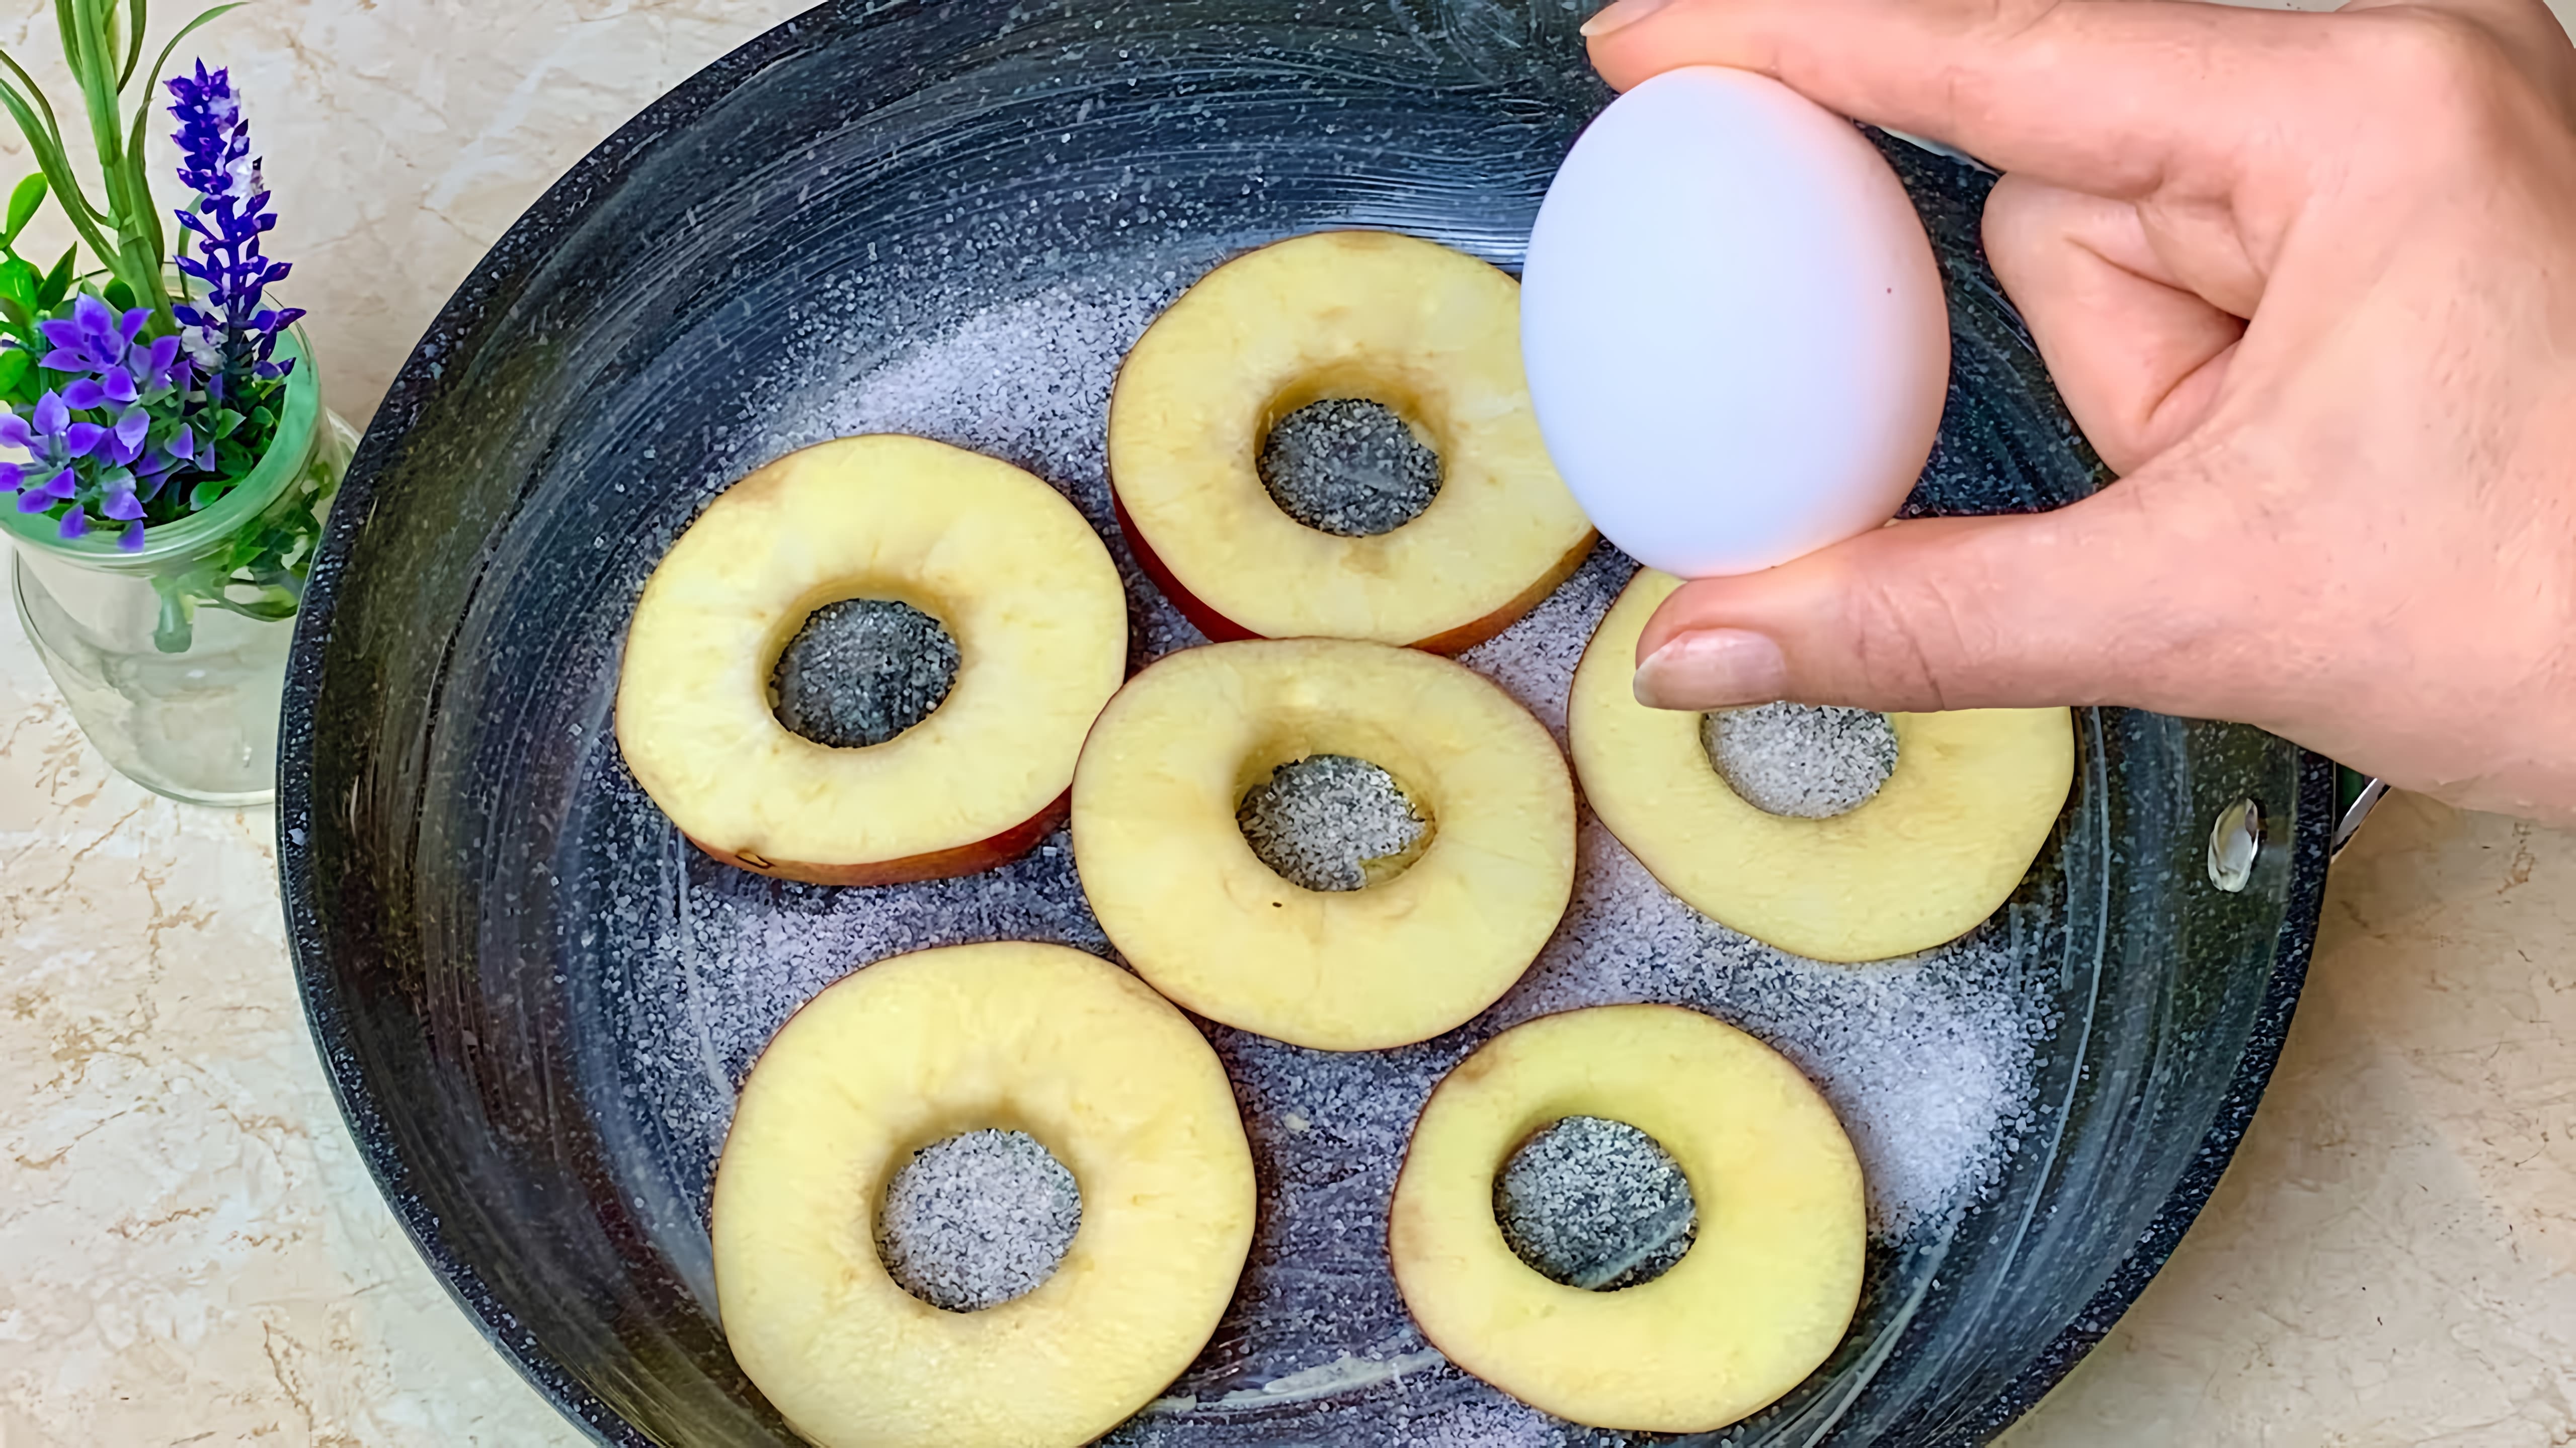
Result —
[{"label": "apple ring in the centre, surrounded by the other five rings", "polygon": [[[1430,819],[1365,889],[1280,879],[1236,824],[1270,770],[1363,757]],[[1319,1051],[1437,1036],[1520,979],[1574,891],[1574,783],[1520,703],[1448,660],[1350,639],[1167,654],[1074,770],[1074,866],[1110,943],[1177,1005]]]}]

